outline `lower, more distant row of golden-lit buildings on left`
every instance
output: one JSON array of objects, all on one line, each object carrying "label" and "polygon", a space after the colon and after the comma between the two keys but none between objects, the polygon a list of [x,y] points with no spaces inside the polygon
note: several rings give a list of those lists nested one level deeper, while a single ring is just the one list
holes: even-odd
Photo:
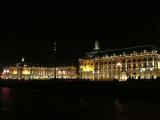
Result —
[{"label": "lower, more distant row of golden-lit buildings on left", "polygon": [[3,79],[75,79],[77,77],[76,67],[74,66],[41,66],[25,65],[24,58],[16,66],[5,67],[1,78]]}]

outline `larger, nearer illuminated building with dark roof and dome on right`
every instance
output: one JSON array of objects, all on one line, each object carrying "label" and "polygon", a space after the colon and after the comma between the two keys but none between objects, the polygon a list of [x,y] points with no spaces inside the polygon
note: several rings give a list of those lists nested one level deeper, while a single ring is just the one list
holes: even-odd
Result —
[{"label": "larger, nearer illuminated building with dark roof and dome on right", "polygon": [[126,80],[150,79],[160,76],[159,48],[152,45],[102,51],[95,42],[95,49],[79,59],[82,79]]}]

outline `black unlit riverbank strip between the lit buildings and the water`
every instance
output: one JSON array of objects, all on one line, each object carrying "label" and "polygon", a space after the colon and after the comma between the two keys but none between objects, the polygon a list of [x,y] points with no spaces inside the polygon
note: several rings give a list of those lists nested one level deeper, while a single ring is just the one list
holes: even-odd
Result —
[{"label": "black unlit riverbank strip between the lit buildings and the water", "polygon": [[160,80],[85,81],[85,80],[0,80],[0,87],[50,89],[55,93],[82,95],[159,95]]}]

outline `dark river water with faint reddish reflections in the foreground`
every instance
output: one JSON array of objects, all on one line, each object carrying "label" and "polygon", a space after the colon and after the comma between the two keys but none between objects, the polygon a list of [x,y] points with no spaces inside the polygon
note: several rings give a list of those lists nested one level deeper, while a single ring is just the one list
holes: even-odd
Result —
[{"label": "dark river water with faint reddish reflections in the foreground", "polygon": [[0,119],[2,120],[151,120],[158,118],[160,118],[159,96],[111,97],[108,94],[94,96],[57,93],[50,88],[0,87]]}]

